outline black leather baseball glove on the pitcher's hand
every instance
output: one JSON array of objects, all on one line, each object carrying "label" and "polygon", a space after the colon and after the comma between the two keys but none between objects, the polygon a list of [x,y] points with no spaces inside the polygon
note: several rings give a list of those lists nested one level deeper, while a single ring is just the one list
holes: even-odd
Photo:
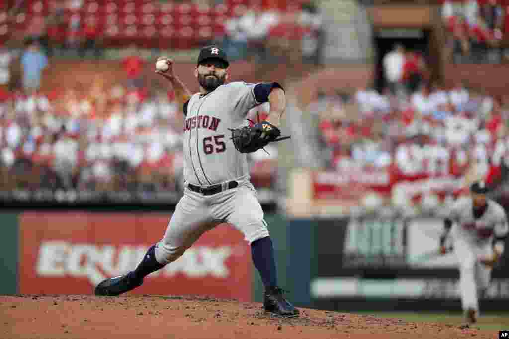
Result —
[{"label": "black leather baseball glove on the pitcher's hand", "polygon": [[260,121],[253,126],[245,126],[232,131],[232,140],[235,148],[241,153],[252,153],[263,149],[271,142],[289,139],[282,137],[281,131],[268,121]]}]

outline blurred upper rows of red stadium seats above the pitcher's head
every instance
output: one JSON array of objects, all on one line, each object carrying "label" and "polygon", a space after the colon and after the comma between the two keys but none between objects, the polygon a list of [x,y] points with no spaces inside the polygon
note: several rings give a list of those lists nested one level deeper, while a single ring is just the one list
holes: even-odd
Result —
[{"label": "blurred upper rows of red stadium seats above the pitcher's head", "polygon": [[104,48],[189,49],[221,43],[232,59],[291,56],[320,63],[322,18],[312,0],[16,0],[0,6],[0,43],[101,57]]}]

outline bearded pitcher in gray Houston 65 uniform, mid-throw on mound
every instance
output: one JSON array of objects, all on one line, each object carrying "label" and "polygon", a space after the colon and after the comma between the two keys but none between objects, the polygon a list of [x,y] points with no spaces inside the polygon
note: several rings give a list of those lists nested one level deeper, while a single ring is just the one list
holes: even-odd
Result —
[{"label": "bearded pitcher in gray Houston 65 uniform, mid-throw on mound", "polygon": [[[115,296],[143,284],[144,277],[175,261],[206,231],[230,223],[249,242],[254,266],[265,285],[264,308],[277,316],[297,316],[299,311],[277,285],[272,240],[256,190],[249,181],[246,153],[278,141],[285,92],[277,82],[227,83],[229,62],[218,46],[201,49],[194,68],[200,93],[191,95],[173,72],[156,73],[172,83],[185,115],[184,195],[177,204],[163,238],[151,246],[135,270],[101,282],[96,295]],[[246,126],[247,112],[270,103],[269,116]]]}]

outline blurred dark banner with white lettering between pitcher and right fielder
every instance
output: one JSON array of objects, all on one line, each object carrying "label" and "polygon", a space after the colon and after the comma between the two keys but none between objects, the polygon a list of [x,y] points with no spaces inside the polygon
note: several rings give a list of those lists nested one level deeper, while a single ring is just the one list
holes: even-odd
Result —
[{"label": "blurred dark banner with white lettering between pitcher and right fielder", "polygon": [[[443,220],[363,216],[314,220],[292,229],[309,247],[309,304],[333,310],[461,310],[458,259],[439,255]],[[293,258],[293,257],[292,257]],[[483,310],[509,302],[507,253],[480,299]],[[298,278],[295,270],[293,279]],[[303,279],[301,276],[300,279]]]}]

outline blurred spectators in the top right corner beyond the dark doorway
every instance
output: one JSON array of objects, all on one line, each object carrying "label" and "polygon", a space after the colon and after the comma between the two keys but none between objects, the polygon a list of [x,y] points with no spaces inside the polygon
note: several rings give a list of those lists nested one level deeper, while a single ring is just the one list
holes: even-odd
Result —
[{"label": "blurred spectators in the top right corner beyond the dark doorway", "polygon": [[507,59],[509,2],[446,0],[442,20],[446,51],[457,63],[499,63]]}]

